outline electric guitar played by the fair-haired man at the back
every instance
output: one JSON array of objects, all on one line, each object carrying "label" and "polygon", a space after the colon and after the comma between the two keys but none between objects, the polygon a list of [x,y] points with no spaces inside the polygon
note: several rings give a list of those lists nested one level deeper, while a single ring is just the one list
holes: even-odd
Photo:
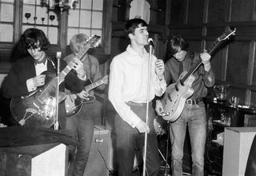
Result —
[{"label": "electric guitar played by the fair-haired man at the back", "polygon": [[[102,84],[106,84],[108,82],[108,75],[105,75],[102,79],[99,79],[96,82],[91,83],[88,86],[85,86],[84,90],[89,92],[94,88],[101,86]],[[77,115],[81,110],[82,106],[86,103],[94,102],[95,97],[93,95],[89,95],[86,99],[79,98],[77,94],[67,94],[65,105],[66,105],[66,117],[72,118]]]}]

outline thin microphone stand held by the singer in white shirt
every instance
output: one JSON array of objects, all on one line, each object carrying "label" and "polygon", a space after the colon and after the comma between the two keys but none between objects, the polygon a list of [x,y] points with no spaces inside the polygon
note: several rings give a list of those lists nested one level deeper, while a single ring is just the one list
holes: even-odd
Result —
[{"label": "thin microphone stand held by the singer in white shirt", "polygon": [[[150,55],[149,55],[149,64],[148,64],[148,75],[147,75],[147,94],[146,94],[146,124],[148,124],[149,118],[149,98],[150,98],[150,75],[151,75],[151,60],[152,60],[152,51],[153,46],[150,45]],[[147,133],[145,133],[144,141],[144,157],[143,157],[143,176],[146,176],[146,147],[147,147]]]}]

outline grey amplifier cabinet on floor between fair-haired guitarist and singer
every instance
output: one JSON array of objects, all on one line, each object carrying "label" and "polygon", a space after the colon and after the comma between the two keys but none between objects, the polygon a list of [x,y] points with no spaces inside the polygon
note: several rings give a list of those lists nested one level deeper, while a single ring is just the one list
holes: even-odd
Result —
[{"label": "grey amplifier cabinet on floor between fair-haired guitarist and singer", "polygon": [[94,126],[94,137],[83,176],[109,176],[109,168],[110,130],[104,126]]}]

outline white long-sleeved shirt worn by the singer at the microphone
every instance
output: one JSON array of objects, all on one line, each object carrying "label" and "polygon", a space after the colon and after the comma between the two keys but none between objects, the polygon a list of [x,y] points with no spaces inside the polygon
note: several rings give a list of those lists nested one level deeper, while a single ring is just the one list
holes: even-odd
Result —
[{"label": "white long-sleeved shirt worn by the singer at the microphone", "polygon": [[[155,74],[155,62],[153,55],[150,70],[150,96],[149,102],[154,96],[162,96],[166,90],[166,81],[160,81]],[[130,110],[126,102],[146,102],[147,79],[149,68],[149,54],[144,49],[142,56],[134,51],[130,45],[126,51],[113,58],[110,64],[109,99],[120,117],[135,127],[141,118]]]}]

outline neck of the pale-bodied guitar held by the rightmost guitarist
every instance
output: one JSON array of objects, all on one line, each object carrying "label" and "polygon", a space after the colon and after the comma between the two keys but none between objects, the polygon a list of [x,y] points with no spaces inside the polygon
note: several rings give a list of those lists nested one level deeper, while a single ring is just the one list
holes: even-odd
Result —
[{"label": "neck of the pale-bodied guitar held by the rightmost guitarist", "polygon": [[[217,48],[218,44],[222,42],[219,38],[217,38],[214,43],[210,46],[208,49],[208,54],[212,54],[214,50]],[[202,65],[202,61],[200,59],[199,62],[195,63],[193,66],[191,66],[190,71],[187,72],[187,74],[182,78],[181,82],[185,82],[187,78],[190,77],[190,75],[194,74],[196,70]]]}]

